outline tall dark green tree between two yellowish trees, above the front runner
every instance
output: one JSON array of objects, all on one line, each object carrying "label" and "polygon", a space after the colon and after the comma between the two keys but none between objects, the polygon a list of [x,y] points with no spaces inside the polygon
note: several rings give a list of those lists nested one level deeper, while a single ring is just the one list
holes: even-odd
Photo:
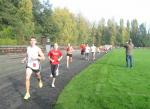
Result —
[{"label": "tall dark green tree between two yellowish trees, above the front runner", "polygon": [[35,34],[53,39],[58,29],[52,19],[52,9],[50,2],[47,0],[41,4],[37,0],[32,0],[32,3],[33,16],[35,21]]}]

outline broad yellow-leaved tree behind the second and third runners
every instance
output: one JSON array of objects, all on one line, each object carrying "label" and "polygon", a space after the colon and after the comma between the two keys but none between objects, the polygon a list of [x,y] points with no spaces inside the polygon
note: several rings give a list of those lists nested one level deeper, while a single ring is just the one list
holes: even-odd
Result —
[{"label": "broad yellow-leaved tree behind the second and third runners", "polygon": [[56,8],[52,14],[53,20],[59,31],[55,37],[60,43],[75,43],[77,40],[77,23],[75,17],[68,9]]}]

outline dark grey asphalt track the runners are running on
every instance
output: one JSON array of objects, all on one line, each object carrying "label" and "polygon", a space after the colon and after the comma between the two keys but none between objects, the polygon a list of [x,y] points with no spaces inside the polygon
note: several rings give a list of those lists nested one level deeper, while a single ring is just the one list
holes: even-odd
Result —
[{"label": "dark grey asphalt track the runners are running on", "polygon": [[[96,55],[97,59],[104,54]],[[80,52],[73,54],[73,62],[70,68],[66,68],[66,54],[63,52],[59,68],[59,76],[56,78],[55,88],[51,87],[50,65],[46,60],[42,62],[41,75],[43,88],[38,88],[38,81],[33,73],[31,77],[29,100],[24,100],[25,94],[25,64],[21,60],[25,54],[0,55],[0,109],[53,109],[57,98],[67,83],[80,71],[95,61],[85,61],[80,58]]]}]

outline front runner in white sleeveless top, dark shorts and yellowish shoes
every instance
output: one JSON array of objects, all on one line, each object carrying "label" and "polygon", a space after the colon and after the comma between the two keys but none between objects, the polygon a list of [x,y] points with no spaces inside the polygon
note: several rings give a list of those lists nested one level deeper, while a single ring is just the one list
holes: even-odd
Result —
[{"label": "front runner in white sleeveless top, dark shorts and yellowish shoes", "polygon": [[36,45],[36,38],[31,37],[30,46],[27,47],[26,57],[22,60],[22,63],[27,62],[26,65],[26,94],[24,99],[27,100],[30,98],[30,77],[33,72],[35,72],[39,87],[42,88],[43,83],[40,75],[40,61],[44,60],[45,56],[42,50]]}]

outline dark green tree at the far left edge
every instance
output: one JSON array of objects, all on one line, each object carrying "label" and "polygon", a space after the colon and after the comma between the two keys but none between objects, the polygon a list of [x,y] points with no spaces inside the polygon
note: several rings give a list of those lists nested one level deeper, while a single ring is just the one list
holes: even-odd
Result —
[{"label": "dark green tree at the far left edge", "polygon": [[20,22],[16,13],[17,7],[14,6],[11,0],[0,1],[0,38],[15,39],[16,35],[13,31]]}]

